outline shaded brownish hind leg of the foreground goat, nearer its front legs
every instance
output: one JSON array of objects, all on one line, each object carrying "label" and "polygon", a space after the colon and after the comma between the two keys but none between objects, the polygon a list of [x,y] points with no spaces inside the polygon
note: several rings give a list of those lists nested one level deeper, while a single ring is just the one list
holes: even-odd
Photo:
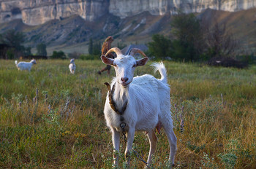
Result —
[{"label": "shaded brownish hind leg of the foreground goat, nearer its front legs", "polygon": [[151,165],[152,155],[154,155],[157,149],[157,135],[154,133],[154,130],[149,130],[148,133],[146,133],[146,135],[148,136],[148,140],[150,144],[147,163],[148,165]]}]

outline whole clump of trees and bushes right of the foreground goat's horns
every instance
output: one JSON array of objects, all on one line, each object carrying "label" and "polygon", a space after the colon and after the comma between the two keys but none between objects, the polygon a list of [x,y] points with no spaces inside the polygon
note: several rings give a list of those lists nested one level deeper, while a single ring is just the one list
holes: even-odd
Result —
[{"label": "whole clump of trees and bushes right of the foreground goat's horns", "polygon": [[[178,12],[171,22],[171,37],[155,34],[148,43],[149,55],[158,59],[176,61],[202,62],[210,60],[215,65],[218,60],[227,64],[219,66],[246,67],[253,61],[247,58],[246,63],[236,60],[235,51],[238,44],[225,24],[215,21],[210,27],[208,21],[199,20],[194,14]],[[230,61],[233,60],[233,61]],[[243,65],[243,66],[240,66]]]}]

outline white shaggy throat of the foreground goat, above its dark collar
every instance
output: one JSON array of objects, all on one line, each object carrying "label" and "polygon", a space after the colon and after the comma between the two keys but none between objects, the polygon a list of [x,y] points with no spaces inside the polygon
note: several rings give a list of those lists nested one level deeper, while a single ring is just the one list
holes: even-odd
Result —
[{"label": "white shaggy throat of the foreground goat, above its dark collar", "polygon": [[129,87],[124,88],[121,84],[116,82],[115,91],[113,93],[113,99],[118,106],[121,106],[129,99]]}]

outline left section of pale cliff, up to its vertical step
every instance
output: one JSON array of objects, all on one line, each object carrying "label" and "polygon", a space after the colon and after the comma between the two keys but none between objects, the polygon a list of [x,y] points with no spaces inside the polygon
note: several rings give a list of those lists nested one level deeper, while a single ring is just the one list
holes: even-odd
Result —
[{"label": "left section of pale cliff, up to its vertical step", "polygon": [[28,25],[80,15],[93,21],[108,12],[105,0],[0,0],[0,22],[22,19]]}]

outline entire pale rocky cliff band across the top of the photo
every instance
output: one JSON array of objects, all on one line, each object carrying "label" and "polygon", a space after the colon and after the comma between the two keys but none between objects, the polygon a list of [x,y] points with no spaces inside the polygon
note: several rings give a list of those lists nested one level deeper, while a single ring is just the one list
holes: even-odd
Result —
[{"label": "entire pale rocky cliff band across the top of the photo", "polygon": [[238,11],[256,7],[255,0],[0,0],[0,23],[22,19],[28,25],[80,15],[94,21],[108,12],[124,18],[148,11],[151,15],[201,12],[203,9]]}]

